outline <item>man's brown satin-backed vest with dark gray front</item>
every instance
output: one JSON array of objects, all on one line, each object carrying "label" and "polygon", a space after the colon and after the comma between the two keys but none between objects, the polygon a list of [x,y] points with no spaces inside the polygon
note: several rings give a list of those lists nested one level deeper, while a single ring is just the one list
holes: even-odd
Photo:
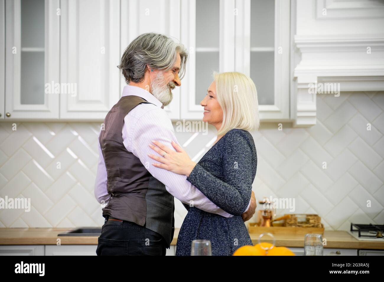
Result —
[{"label": "man's brown satin-backed vest with dark gray front", "polygon": [[[174,198],[123,144],[124,117],[141,103],[138,96],[124,96],[104,119],[99,142],[107,169],[110,201],[103,216],[131,221],[161,234],[168,247],[174,235]],[[148,144],[142,144],[148,146]]]}]

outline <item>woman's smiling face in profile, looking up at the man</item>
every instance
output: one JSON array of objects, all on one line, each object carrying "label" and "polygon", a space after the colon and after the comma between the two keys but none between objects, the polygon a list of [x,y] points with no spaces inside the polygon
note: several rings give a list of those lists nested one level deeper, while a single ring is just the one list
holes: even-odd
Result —
[{"label": "woman's smiling face in profile, looking up at the man", "polygon": [[204,107],[203,121],[208,122],[219,129],[223,122],[223,110],[217,101],[216,83],[213,81],[208,87],[207,95],[200,102],[200,105]]}]

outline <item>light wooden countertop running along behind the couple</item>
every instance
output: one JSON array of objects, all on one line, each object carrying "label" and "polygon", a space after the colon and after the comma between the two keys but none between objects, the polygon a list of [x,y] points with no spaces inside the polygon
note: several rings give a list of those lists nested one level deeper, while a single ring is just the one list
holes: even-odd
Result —
[{"label": "light wooden countertop running along behind the couple", "polygon": [[[61,245],[97,245],[97,236],[57,236],[70,228],[0,228],[0,245],[56,245],[60,238]],[[175,229],[171,245],[176,245],[180,229]],[[259,234],[250,234],[253,244],[258,243]],[[379,249],[384,250],[381,241],[359,241],[346,231],[324,231],[327,239],[325,248],[340,249]],[[275,235],[276,246],[303,247],[304,235]],[[266,240],[265,240],[266,241]],[[270,242],[272,242],[270,240]]]}]

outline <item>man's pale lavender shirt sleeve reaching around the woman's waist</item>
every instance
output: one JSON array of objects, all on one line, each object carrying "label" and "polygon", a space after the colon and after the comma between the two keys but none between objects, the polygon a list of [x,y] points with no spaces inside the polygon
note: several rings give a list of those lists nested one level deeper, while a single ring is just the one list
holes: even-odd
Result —
[{"label": "man's pale lavender shirt sleeve reaching around the woman's waist", "polygon": [[[127,117],[126,117],[127,118]],[[125,124],[129,122],[126,120]],[[161,181],[166,190],[182,203],[193,205],[209,213],[220,214],[224,217],[232,217],[216,204],[212,203],[204,194],[187,181],[187,176],[169,172],[168,170],[157,168],[152,165],[156,162],[148,156],[148,153],[156,155],[150,147],[151,140],[163,143],[169,148],[173,148],[172,140],[176,143],[174,128],[165,110],[161,108],[151,109],[137,120],[134,126],[130,126],[132,132],[123,134],[123,143],[127,150],[132,152],[141,163],[147,168],[149,173],[157,180]],[[125,125],[123,127],[124,130]],[[127,138],[124,138],[124,135]]]}]

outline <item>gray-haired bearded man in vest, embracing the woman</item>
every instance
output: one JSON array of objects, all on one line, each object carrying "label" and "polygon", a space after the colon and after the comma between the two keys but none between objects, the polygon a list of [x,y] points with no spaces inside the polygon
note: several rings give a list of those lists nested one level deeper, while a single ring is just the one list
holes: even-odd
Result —
[{"label": "gray-haired bearded man in vest, embracing the woman", "polygon": [[[179,175],[154,167],[151,140],[171,146],[177,140],[163,109],[180,86],[188,54],[166,35],[145,33],[129,44],[119,68],[127,82],[106,115],[99,136],[94,193],[105,223],[98,255],[165,255],[174,235],[174,197],[204,211],[231,216]],[[180,76],[180,77],[179,77]],[[243,219],[255,212],[252,196]]]}]

